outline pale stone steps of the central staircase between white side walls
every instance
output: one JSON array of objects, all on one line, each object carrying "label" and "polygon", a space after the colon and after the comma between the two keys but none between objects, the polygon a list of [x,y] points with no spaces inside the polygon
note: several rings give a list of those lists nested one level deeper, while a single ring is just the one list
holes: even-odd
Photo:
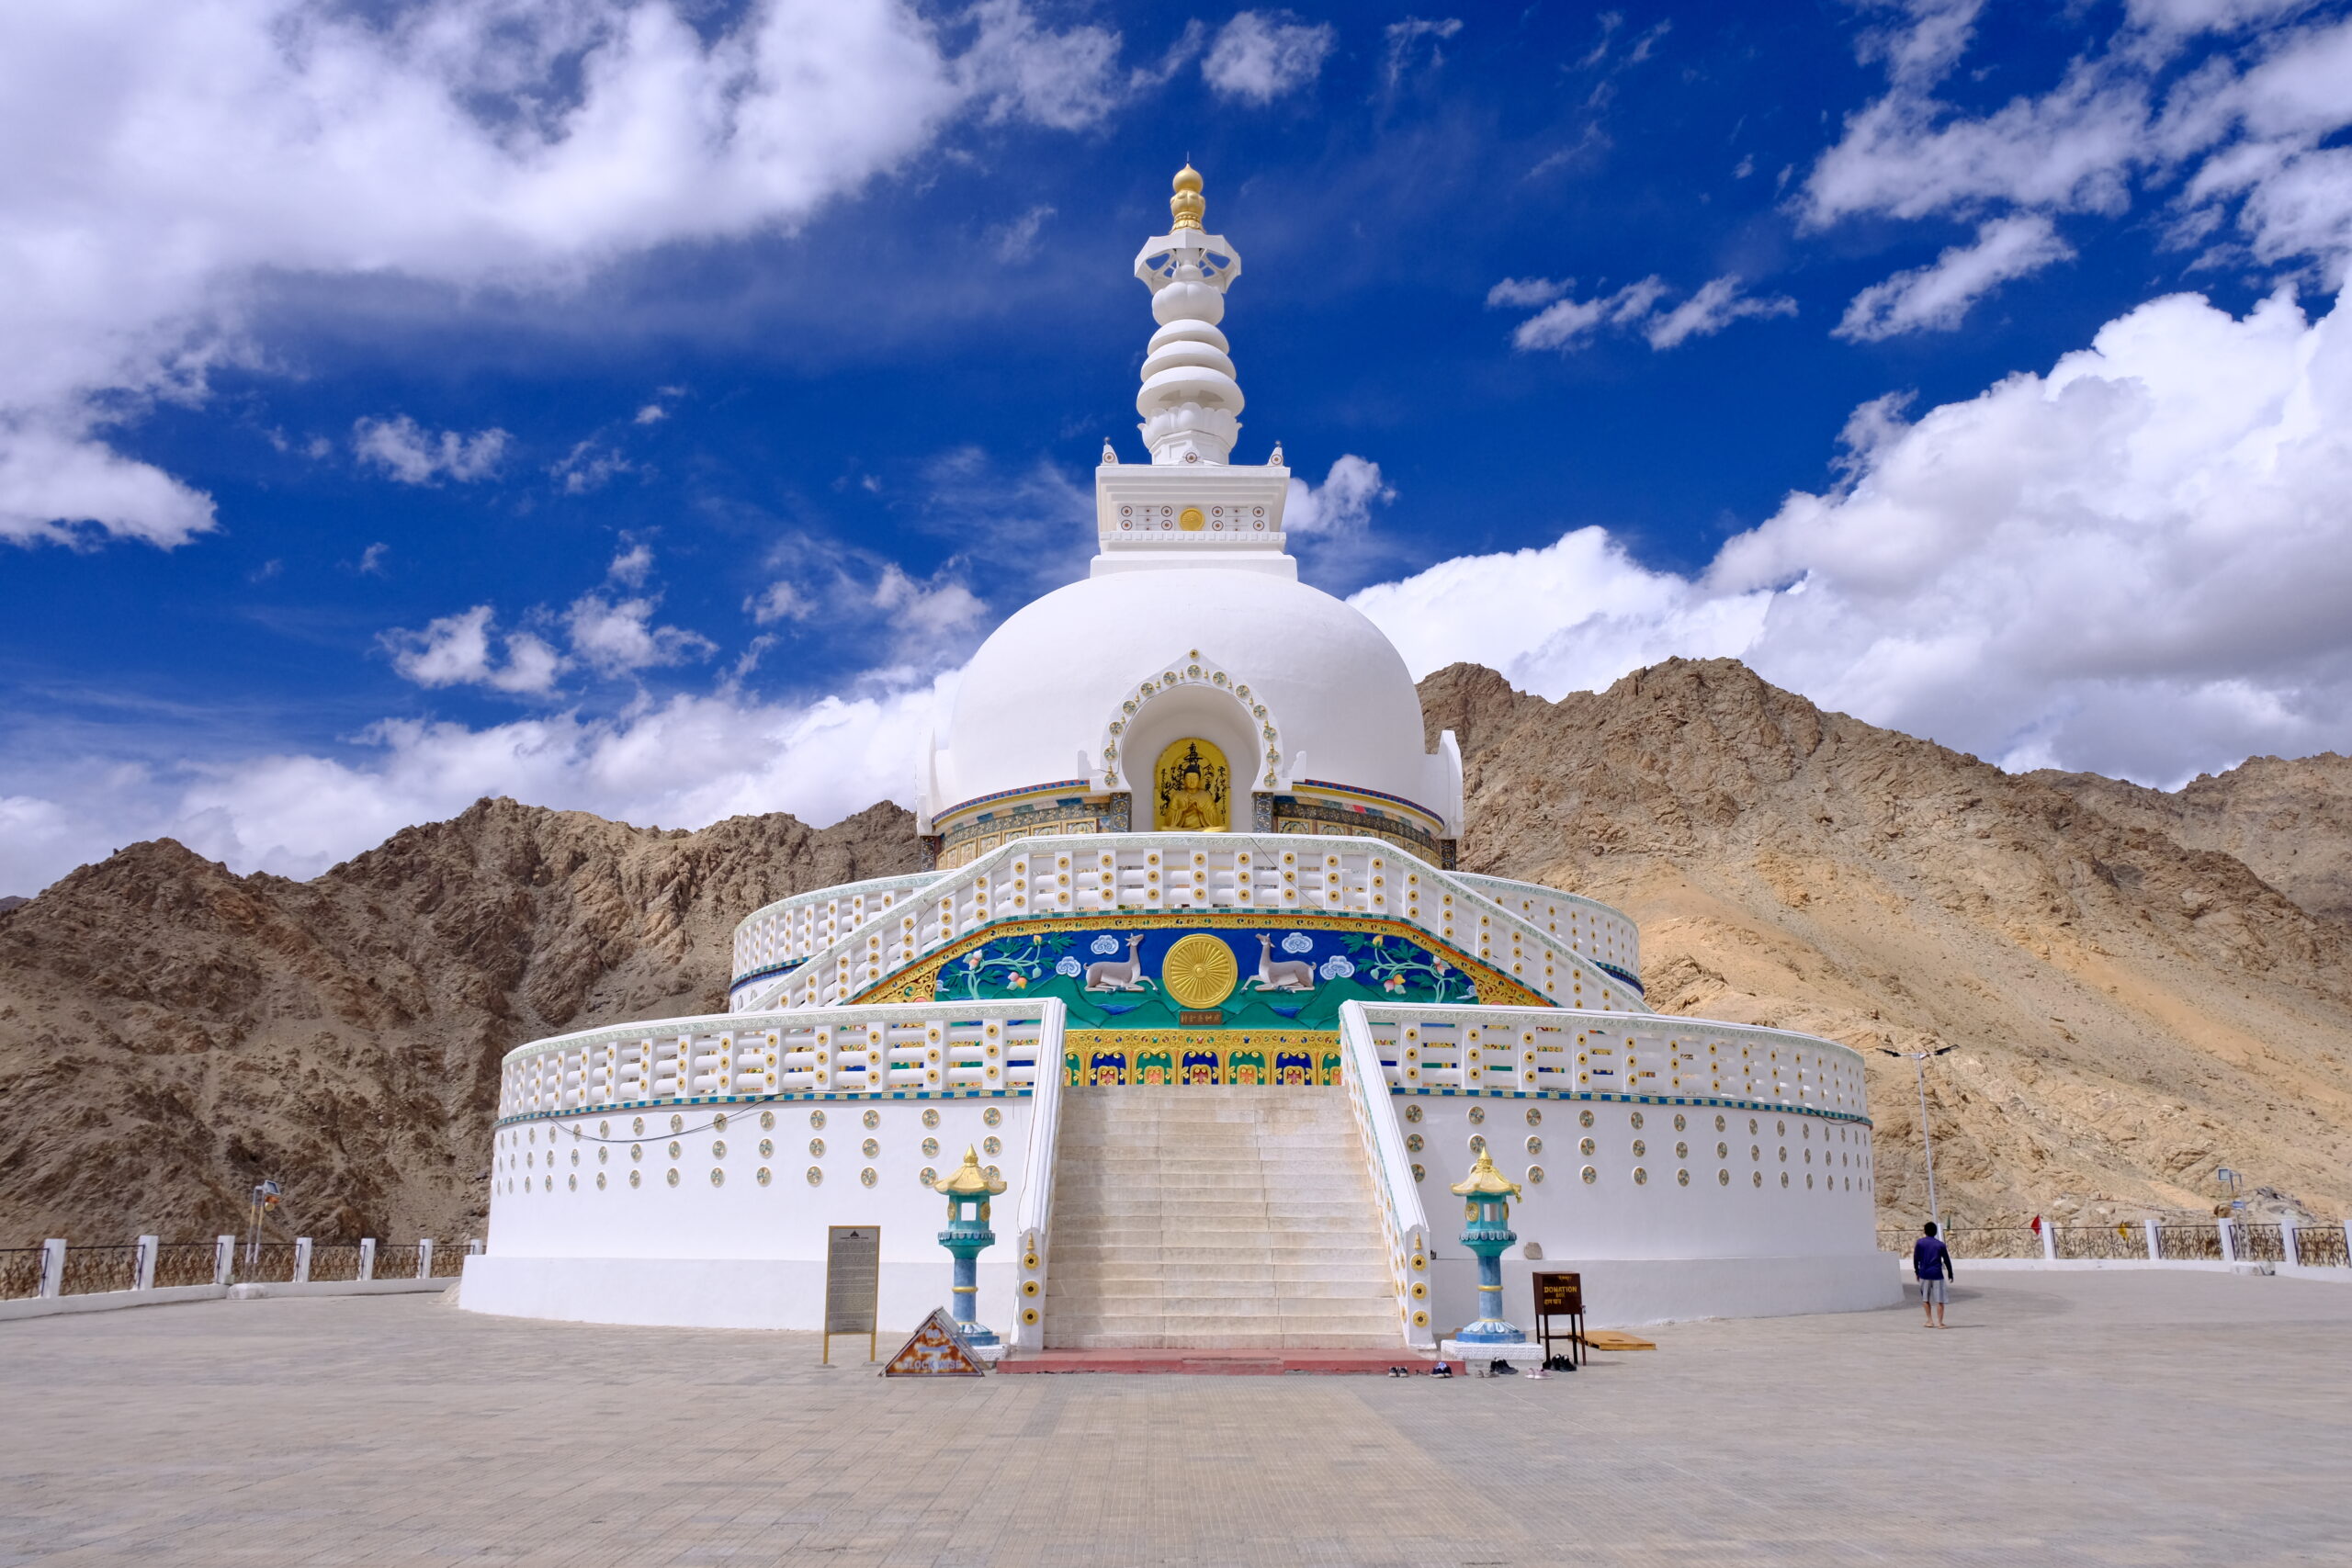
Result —
[{"label": "pale stone steps of the central staircase between white side walls", "polygon": [[1068,1088],[1047,1347],[1404,1349],[1338,1088]]}]

